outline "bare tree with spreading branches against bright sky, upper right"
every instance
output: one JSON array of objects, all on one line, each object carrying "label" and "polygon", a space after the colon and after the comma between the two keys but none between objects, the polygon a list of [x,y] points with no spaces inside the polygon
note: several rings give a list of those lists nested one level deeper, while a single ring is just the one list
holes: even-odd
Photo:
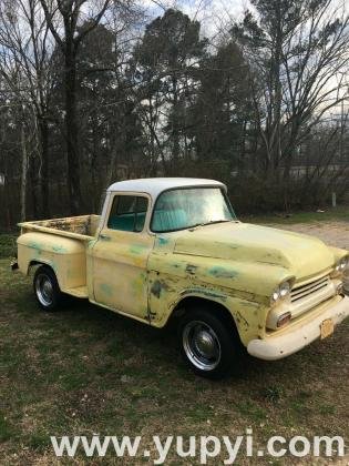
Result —
[{"label": "bare tree with spreading branches against bright sky, upper right", "polygon": [[255,118],[264,169],[284,180],[297,146],[329,109],[345,98],[349,18],[333,0],[253,0],[233,34],[252,70]]}]

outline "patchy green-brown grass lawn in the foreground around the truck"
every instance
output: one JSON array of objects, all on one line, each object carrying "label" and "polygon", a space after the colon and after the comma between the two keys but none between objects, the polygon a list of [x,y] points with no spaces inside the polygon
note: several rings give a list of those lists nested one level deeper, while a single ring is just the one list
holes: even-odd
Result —
[{"label": "patchy green-brown grass lawn in the foreground around the truck", "polygon": [[[2,257],[8,247],[11,240],[2,237]],[[40,311],[31,280],[11,273],[9,263],[0,259],[1,464],[55,464],[50,435],[143,435],[142,450],[153,435],[234,438],[247,427],[256,447],[271,435],[349,440],[348,320],[335,336],[294,356],[274,363],[246,357],[240,374],[214,383],[184,367],[170,330],[146,327],[84,301],[72,300],[57,313]],[[299,464],[296,459],[258,463]],[[107,459],[144,462],[148,458]],[[86,463],[100,464],[82,453],[60,464]],[[173,448],[166,464],[189,463],[196,464],[181,463]],[[257,459],[239,455],[238,464]]]}]

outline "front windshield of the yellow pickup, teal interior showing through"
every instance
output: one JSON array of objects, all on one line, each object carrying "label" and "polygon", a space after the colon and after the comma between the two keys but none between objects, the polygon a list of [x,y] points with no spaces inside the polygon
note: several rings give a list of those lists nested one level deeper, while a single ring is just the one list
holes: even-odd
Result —
[{"label": "front windshield of the yellow pickup, teal interior showing through", "polygon": [[155,233],[185,230],[236,220],[219,188],[189,188],[165,191],[155,204],[151,230]]}]

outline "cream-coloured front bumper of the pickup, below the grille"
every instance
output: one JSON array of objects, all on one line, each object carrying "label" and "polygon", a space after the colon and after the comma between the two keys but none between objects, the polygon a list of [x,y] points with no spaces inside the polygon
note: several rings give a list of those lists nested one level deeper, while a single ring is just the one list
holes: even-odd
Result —
[{"label": "cream-coloured front bumper of the pickup, below the grille", "polygon": [[309,315],[290,328],[271,334],[263,340],[252,340],[247,351],[252,356],[266,361],[281,359],[309,345],[321,336],[324,321],[332,320],[335,326],[349,316],[349,297],[337,296],[337,302],[319,306],[314,318]]}]

